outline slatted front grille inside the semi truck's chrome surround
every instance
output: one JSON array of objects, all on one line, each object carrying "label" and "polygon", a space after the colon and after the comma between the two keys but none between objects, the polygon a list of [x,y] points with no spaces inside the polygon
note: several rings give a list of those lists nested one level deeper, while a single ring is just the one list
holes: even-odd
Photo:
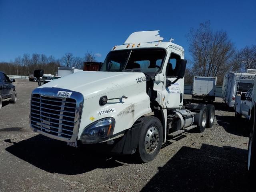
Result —
[{"label": "slatted front grille inside the semi truck's chrome surround", "polygon": [[33,128],[59,137],[71,138],[75,125],[76,100],[32,94],[30,123]]}]

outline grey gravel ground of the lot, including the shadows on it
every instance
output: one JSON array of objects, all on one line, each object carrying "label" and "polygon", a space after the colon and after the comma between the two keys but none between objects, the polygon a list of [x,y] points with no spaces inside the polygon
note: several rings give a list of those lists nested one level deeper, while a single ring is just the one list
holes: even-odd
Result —
[{"label": "grey gravel ground of the lot, including the shadows on it", "polygon": [[[0,191],[247,191],[248,126],[216,98],[216,120],[160,150],[152,162],[67,146],[30,131],[36,82],[16,80],[16,104],[0,111]],[[184,96],[190,99],[190,95]]]}]

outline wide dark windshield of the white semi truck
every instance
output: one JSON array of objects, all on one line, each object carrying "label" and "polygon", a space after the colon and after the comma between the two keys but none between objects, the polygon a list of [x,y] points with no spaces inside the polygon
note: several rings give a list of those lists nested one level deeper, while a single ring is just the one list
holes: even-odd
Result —
[{"label": "wide dark windshield of the white semi truck", "polygon": [[156,73],[161,69],[165,54],[163,49],[112,51],[100,70]]}]

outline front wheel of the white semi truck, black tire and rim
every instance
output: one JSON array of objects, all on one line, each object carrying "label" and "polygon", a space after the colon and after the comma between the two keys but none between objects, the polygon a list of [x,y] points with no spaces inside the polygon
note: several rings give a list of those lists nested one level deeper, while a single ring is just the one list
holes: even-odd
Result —
[{"label": "front wheel of the white semi truck, black tire and rim", "polygon": [[160,120],[154,116],[145,116],[138,144],[138,157],[141,162],[147,163],[158,155],[162,146],[163,127]]}]

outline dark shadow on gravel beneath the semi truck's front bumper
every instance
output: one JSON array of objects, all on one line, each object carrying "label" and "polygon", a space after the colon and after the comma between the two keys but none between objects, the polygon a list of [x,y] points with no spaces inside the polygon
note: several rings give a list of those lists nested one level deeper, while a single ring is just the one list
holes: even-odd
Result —
[{"label": "dark shadow on gravel beneath the semi truck's front bumper", "polygon": [[74,175],[95,168],[113,168],[123,165],[107,154],[96,154],[85,148],[67,146],[65,142],[42,135],[18,143],[13,142],[6,151],[50,173]]}]

